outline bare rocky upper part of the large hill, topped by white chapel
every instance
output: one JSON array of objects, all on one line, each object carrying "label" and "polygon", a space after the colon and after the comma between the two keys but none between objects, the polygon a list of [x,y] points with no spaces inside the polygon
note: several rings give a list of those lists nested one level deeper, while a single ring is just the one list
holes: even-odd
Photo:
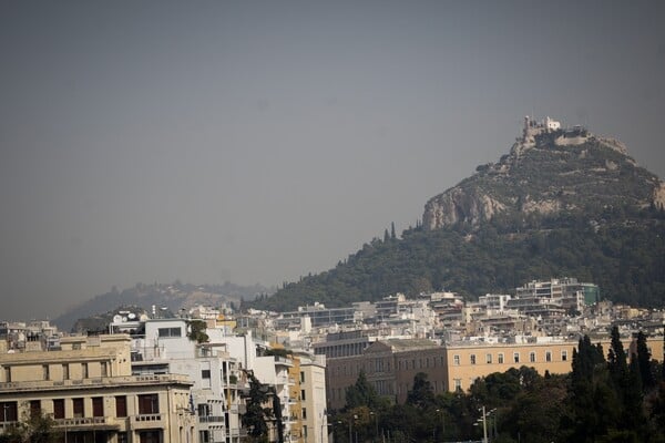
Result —
[{"label": "bare rocky upper part of the large hill, topped by white chapel", "polygon": [[426,229],[479,226],[501,214],[528,217],[607,208],[665,207],[665,185],[628,155],[618,141],[586,128],[561,127],[554,120],[525,117],[522,136],[497,163],[432,197],[424,206]]}]

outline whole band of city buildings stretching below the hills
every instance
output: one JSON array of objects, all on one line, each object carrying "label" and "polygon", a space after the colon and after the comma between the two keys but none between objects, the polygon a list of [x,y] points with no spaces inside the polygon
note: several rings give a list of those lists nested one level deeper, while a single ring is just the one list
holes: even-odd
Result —
[{"label": "whole band of city buildings stretching below the hills", "polygon": [[270,398],[264,441],[327,443],[329,413],[360,374],[397,403],[418,373],[434,394],[524,365],[565,374],[579,340],[607,349],[613,327],[628,356],[642,332],[662,362],[665,322],[663,310],[614,305],[567,277],[478,301],[397,293],[344,308],[197,306],[162,317],[157,307],[117,311],[105,331],[88,333],[0,321],[0,431],[45,415],[63,442],[254,441],[246,416],[258,388]]}]

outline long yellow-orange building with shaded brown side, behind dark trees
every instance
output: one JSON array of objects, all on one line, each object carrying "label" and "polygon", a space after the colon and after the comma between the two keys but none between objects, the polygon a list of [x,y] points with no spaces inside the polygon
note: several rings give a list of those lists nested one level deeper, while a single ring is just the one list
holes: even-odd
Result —
[{"label": "long yellow-orange building with shaded brown side, behind dark trees", "polygon": [[[601,343],[605,356],[610,339],[593,340]],[[663,338],[647,340],[652,359],[663,361]],[[563,374],[572,370],[573,350],[577,340],[522,342],[458,342],[439,346],[430,340],[376,341],[362,353],[327,360],[326,388],[328,405],[332,410],[346,403],[346,389],[356,383],[360,371],[374,384],[379,395],[403,403],[413,378],[424,372],[434,394],[467,391],[473,381],[493,372],[505,372],[523,365],[545,372]],[[635,351],[634,340],[624,340],[628,357]]]}]

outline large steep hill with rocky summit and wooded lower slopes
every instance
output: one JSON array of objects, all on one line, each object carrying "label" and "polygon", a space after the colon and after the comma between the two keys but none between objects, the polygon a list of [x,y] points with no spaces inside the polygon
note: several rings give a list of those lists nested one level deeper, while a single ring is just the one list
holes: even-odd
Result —
[{"label": "large steep hill with rocky summit and wooded lower slopes", "polygon": [[254,305],[335,307],[439,289],[474,298],[569,276],[611,300],[663,306],[664,207],[663,182],[620,142],[526,120],[508,154],[432,197],[401,238],[375,238]]}]

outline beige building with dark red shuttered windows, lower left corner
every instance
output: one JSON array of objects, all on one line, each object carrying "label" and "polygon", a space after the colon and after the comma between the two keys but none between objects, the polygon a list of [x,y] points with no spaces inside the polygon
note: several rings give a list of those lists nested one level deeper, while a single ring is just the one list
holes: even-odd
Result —
[{"label": "beige building with dark red shuttered windows, lower left corner", "polygon": [[196,443],[192,382],[132,375],[130,353],[126,334],[63,338],[58,351],[0,349],[0,432],[48,414],[66,443]]}]

